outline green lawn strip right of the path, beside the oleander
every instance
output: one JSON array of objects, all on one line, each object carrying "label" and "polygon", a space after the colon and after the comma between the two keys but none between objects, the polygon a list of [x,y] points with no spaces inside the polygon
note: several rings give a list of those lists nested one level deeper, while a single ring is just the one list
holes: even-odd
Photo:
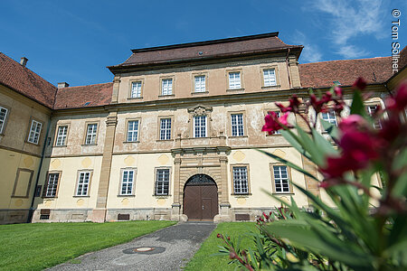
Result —
[{"label": "green lawn strip right of the path, beside the oleander", "polygon": [[227,256],[212,256],[218,253],[218,246],[222,246],[222,239],[216,238],[218,233],[228,235],[231,238],[242,236],[241,248],[254,246],[251,237],[244,236],[246,232],[257,231],[256,224],[253,222],[225,222],[220,223],[212,234],[202,244],[190,260],[185,270],[234,270],[235,265],[228,265],[230,261]]}]

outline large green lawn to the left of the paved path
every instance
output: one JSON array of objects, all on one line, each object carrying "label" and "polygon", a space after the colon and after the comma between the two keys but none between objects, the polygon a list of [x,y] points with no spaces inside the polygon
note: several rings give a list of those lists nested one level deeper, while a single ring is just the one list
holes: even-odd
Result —
[{"label": "large green lawn to the left of the paved path", "polygon": [[0,270],[42,270],[174,224],[126,221],[0,225]]}]

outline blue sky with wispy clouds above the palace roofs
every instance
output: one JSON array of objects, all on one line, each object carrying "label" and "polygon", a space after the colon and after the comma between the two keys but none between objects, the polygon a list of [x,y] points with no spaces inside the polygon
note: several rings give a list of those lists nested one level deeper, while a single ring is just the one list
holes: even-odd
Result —
[{"label": "blue sky with wispy clouds above the palace roofs", "polygon": [[304,45],[300,63],[371,58],[392,53],[394,8],[404,47],[402,0],[2,0],[0,51],[71,86],[111,81],[106,66],[126,61],[131,49],[257,33]]}]

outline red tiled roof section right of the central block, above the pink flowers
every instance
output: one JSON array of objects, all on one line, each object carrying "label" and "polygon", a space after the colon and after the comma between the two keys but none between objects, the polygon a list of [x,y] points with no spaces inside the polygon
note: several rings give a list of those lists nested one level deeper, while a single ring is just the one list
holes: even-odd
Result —
[{"label": "red tiled roof section right of the central block, above the pink flowers", "polygon": [[302,88],[332,87],[334,81],[351,86],[358,77],[363,77],[368,84],[383,83],[393,75],[391,57],[315,62],[298,67]]}]

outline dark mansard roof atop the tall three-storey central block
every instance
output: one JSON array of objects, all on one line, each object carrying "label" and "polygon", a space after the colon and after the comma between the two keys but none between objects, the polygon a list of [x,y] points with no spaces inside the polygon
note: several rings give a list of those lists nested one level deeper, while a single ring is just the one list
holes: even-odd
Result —
[{"label": "dark mansard roof atop the tall three-storey central block", "polygon": [[108,67],[119,70],[121,67],[140,66],[147,64],[163,64],[179,61],[200,61],[211,58],[248,55],[253,52],[296,50],[299,55],[302,45],[289,45],[282,42],[279,33],[228,38],[207,42],[190,42],[169,46],[160,46],[132,50],[133,54],[122,64]]}]

